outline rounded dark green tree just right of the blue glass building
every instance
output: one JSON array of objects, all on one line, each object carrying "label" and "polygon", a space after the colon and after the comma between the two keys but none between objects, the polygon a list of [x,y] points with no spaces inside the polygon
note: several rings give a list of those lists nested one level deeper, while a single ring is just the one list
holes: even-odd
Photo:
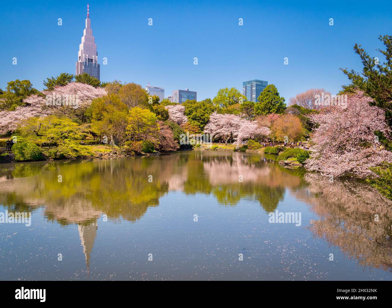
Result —
[{"label": "rounded dark green tree just right of the blue glass building", "polygon": [[283,113],[285,108],[285,99],[280,97],[278,89],[273,84],[265,87],[258,97],[258,102],[254,105],[256,115]]}]

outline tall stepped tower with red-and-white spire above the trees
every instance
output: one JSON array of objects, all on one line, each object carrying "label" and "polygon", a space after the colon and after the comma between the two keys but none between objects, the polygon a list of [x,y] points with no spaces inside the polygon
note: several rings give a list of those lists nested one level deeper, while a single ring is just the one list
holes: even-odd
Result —
[{"label": "tall stepped tower with red-and-white spire above the trees", "polygon": [[78,61],[76,61],[76,75],[87,73],[100,79],[97,45],[91,29],[89,5],[87,4],[86,28],[83,31],[82,43],[79,45]]}]

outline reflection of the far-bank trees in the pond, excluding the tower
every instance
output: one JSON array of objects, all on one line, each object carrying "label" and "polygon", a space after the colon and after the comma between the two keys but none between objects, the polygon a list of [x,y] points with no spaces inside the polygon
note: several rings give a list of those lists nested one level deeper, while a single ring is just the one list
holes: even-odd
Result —
[{"label": "reflection of the far-bank trees in the pond, excluding the tower", "polygon": [[[282,170],[261,155],[212,151],[15,164],[0,171],[0,177],[13,178],[7,182],[12,187],[0,187],[0,204],[25,210],[45,205],[47,219],[64,225],[89,222],[102,213],[109,219],[136,221],[169,189],[181,189],[186,194],[212,194],[219,204],[229,206],[241,199],[258,200],[266,211],[273,211],[286,186],[302,185],[296,172]],[[238,182],[238,174],[245,182]]]}]

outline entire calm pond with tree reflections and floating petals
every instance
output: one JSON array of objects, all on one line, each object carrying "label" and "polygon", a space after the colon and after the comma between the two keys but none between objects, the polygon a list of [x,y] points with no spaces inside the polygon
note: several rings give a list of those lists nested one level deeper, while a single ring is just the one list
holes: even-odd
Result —
[{"label": "entire calm pond with tree reflections and floating petals", "polygon": [[392,203],[275,158],[0,165],[0,279],[391,280]]}]

